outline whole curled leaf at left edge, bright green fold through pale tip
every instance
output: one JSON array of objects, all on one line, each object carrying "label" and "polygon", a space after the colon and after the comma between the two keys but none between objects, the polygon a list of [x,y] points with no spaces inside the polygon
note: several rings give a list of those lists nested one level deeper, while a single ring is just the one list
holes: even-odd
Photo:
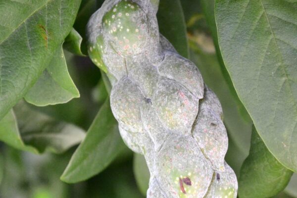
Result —
[{"label": "whole curled leaf at left edge, bright green fold through pale tip", "polygon": [[24,101],[0,121],[1,141],[33,153],[45,150],[61,153],[79,144],[84,137],[84,130],[33,110]]}]

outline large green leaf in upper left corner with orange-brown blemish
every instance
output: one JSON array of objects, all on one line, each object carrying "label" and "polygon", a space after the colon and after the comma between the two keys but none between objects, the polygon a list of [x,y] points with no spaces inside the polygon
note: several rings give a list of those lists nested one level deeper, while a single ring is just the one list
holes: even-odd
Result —
[{"label": "large green leaf in upper left corner with orange-brown blemish", "polygon": [[80,0],[0,1],[0,119],[48,66]]}]

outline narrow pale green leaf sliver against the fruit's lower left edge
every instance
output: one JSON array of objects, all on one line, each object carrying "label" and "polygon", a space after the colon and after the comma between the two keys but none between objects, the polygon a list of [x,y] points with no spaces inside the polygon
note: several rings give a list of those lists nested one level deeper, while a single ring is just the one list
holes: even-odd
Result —
[{"label": "narrow pale green leaf sliver against the fruit's lower left edge", "polygon": [[134,153],[133,170],[137,186],[140,192],[146,196],[149,183],[149,171],[145,156],[142,154]]}]

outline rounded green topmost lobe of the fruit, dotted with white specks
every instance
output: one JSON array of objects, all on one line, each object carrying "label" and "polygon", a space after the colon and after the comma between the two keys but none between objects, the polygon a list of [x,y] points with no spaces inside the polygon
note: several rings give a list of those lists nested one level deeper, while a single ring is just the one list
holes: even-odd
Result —
[{"label": "rounded green topmost lobe of the fruit, dotted with white specks", "polygon": [[143,51],[148,37],[148,18],[139,5],[122,0],[102,19],[104,35],[119,55],[135,55]]}]

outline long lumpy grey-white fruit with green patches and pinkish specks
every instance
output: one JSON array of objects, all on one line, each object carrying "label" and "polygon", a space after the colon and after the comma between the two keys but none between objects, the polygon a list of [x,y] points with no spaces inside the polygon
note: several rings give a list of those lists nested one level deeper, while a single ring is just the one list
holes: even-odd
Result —
[{"label": "long lumpy grey-white fruit with green patches and pinkish specks", "polygon": [[155,14],[156,0],[106,0],[88,24],[89,54],[113,86],[120,134],[145,155],[147,197],[236,198],[220,102],[159,35]]}]

